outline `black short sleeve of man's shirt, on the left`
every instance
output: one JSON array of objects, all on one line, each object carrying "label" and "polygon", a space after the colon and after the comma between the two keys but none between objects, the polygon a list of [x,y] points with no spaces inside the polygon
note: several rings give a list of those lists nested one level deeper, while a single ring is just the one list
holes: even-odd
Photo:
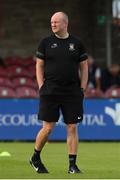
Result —
[{"label": "black short sleeve of man's shirt, on the left", "polygon": [[38,49],[36,51],[36,57],[40,59],[45,59],[45,41],[44,39],[39,43]]}]

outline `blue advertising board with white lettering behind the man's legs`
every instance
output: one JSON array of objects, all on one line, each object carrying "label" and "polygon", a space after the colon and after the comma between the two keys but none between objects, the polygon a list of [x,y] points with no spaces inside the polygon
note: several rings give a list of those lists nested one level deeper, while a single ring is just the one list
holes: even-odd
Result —
[{"label": "blue advertising board with white lettering behind the man's legs", "polygon": [[[38,99],[0,100],[0,140],[34,140],[42,122]],[[120,99],[85,99],[84,118],[78,125],[80,140],[120,140]],[[62,114],[50,140],[65,140]]]}]

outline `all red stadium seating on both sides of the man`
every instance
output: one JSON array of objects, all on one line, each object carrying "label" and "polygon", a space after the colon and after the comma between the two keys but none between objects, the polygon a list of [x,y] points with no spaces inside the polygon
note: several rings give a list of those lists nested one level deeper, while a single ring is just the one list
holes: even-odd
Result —
[{"label": "all red stadium seating on both sides of the man", "polygon": [[[0,66],[0,88],[2,97],[37,98],[34,57],[18,56],[5,58],[5,67]],[[114,86],[105,94],[98,89],[88,88],[86,98],[120,98],[120,88]]]}]

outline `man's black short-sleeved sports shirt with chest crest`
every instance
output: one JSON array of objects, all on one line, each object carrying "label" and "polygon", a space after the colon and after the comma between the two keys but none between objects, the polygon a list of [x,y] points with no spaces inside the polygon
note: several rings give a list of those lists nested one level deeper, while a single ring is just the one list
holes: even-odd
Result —
[{"label": "man's black short-sleeved sports shirt with chest crest", "polygon": [[41,95],[79,93],[79,63],[87,59],[79,39],[71,35],[66,39],[51,35],[40,42],[36,57],[44,61],[45,82]]}]

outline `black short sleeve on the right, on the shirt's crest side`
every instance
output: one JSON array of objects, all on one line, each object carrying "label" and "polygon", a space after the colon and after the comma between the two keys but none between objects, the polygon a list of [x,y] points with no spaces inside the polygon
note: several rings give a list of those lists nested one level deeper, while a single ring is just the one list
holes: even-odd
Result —
[{"label": "black short sleeve on the right, on the shirt's crest side", "polygon": [[88,55],[87,52],[85,50],[84,45],[79,42],[79,57],[80,57],[80,61],[85,61],[86,59],[88,59]]}]

